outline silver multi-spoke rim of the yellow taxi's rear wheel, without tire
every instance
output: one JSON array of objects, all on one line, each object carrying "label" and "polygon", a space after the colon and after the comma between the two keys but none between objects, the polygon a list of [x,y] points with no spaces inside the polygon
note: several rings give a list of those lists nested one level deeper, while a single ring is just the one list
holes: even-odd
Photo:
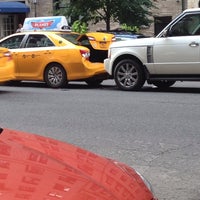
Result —
[{"label": "silver multi-spoke rim of the yellow taxi's rear wheel, without tire", "polygon": [[48,72],[48,80],[52,85],[59,85],[63,80],[63,72],[59,67],[52,67]]}]

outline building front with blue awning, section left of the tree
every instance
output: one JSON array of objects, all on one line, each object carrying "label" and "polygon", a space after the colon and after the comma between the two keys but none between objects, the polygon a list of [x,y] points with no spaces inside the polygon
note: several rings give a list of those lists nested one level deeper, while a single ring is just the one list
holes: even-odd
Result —
[{"label": "building front with blue awning, section left of the tree", "polygon": [[0,38],[14,33],[18,24],[23,24],[26,17],[52,16],[53,2],[54,0],[0,0]]}]

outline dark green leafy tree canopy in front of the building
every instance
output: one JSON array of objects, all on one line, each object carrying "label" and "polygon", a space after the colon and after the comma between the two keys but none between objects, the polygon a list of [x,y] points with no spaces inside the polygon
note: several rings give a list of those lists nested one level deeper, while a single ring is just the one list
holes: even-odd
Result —
[{"label": "dark green leafy tree canopy in front of the building", "polygon": [[151,0],[59,0],[62,9],[57,15],[65,15],[81,22],[94,24],[104,21],[106,30],[110,30],[112,22],[127,26],[149,25],[151,8],[155,7]]}]

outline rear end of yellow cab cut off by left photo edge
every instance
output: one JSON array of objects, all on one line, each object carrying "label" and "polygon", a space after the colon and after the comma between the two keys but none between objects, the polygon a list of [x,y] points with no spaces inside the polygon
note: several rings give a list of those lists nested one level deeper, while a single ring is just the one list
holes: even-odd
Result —
[{"label": "rear end of yellow cab cut off by left photo edge", "polygon": [[14,60],[11,52],[4,47],[0,47],[0,82],[13,80],[14,77]]}]

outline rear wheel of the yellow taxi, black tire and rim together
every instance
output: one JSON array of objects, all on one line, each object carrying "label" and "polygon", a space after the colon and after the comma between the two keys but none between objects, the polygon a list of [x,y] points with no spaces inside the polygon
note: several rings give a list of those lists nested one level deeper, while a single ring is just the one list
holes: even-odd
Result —
[{"label": "rear wheel of the yellow taxi, black tire and rim together", "polygon": [[45,82],[52,88],[65,87],[67,76],[63,67],[58,63],[48,65],[45,70]]}]

